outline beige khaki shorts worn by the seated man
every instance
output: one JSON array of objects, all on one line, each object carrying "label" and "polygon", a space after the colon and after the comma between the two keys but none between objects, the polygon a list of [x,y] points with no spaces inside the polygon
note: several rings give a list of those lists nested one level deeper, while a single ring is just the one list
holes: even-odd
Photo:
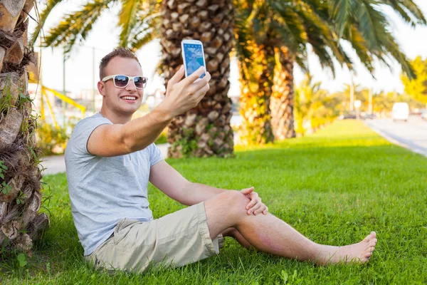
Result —
[{"label": "beige khaki shorts worn by the seated man", "polygon": [[144,271],[148,266],[183,266],[223,247],[223,237],[209,237],[204,202],[151,222],[120,219],[114,234],[85,257],[97,269]]}]

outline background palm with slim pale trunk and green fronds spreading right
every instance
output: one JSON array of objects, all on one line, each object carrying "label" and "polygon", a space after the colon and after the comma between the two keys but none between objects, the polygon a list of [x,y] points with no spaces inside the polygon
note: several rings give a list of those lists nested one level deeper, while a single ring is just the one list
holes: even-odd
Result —
[{"label": "background palm with slim pale trunk and green fronds spreading right", "polygon": [[[406,56],[399,49],[394,37],[388,31],[389,22],[378,9],[379,4],[391,6],[409,24],[426,24],[422,12],[413,1],[399,0],[304,0],[304,1],[255,1],[251,6],[253,34],[263,36],[273,28],[279,37],[276,51],[282,71],[275,76],[282,78],[270,100],[273,133],[276,138],[288,138],[294,134],[292,124],[293,77],[292,66],[296,61],[305,69],[307,43],[319,57],[322,67],[334,72],[332,58],[352,70],[352,61],[342,51],[342,41],[347,41],[364,66],[374,71],[374,59],[386,63],[386,58],[394,58],[402,70],[413,76]],[[267,11],[268,13],[266,13]],[[267,16],[261,16],[267,15]],[[274,21],[276,20],[276,21]],[[278,24],[275,24],[278,23]],[[325,24],[327,24],[325,26]],[[245,43],[246,41],[240,41]],[[283,72],[283,74],[280,74]],[[281,93],[283,92],[283,93]]]}]

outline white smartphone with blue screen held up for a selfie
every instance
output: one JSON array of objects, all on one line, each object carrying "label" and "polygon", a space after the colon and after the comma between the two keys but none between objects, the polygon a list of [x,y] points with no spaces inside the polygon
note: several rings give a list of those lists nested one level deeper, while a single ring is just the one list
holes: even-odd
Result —
[{"label": "white smartphone with blue screen held up for a selfie", "polygon": [[[181,41],[182,58],[184,60],[185,77],[194,73],[201,66],[204,66],[206,71],[206,63],[204,60],[203,44],[197,40]],[[204,78],[206,73],[203,73],[200,78]],[[196,79],[199,81],[200,78]]]}]

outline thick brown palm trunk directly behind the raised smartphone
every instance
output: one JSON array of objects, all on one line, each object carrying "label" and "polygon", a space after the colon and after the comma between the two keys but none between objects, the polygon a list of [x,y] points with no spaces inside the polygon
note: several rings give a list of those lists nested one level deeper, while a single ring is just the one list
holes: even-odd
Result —
[{"label": "thick brown palm trunk directly behind the raised smartphone", "polygon": [[232,0],[162,1],[161,45],[167,82],[182,64],[181,40],[204,43],[211,89],[199,105],[169,124],[169,157],[228,156],[233,154],[231,130],[230,51],[233,47]]}]

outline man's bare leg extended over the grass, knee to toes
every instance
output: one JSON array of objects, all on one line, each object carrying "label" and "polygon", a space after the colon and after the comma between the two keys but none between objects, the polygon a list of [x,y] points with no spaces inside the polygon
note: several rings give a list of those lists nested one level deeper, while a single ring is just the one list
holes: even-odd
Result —
[{"label": "man's bare leg extended over the grass, knee to toes", "polygon": [[238,191],[227,191],[205,201],[211,238],[234,227],[255,249],[280,257],[315,261],[318,264],[339,261],[366,262],[374,252],[376,234],[345,247],[316,244],[272,214],[246,214],[249,199]]}]

